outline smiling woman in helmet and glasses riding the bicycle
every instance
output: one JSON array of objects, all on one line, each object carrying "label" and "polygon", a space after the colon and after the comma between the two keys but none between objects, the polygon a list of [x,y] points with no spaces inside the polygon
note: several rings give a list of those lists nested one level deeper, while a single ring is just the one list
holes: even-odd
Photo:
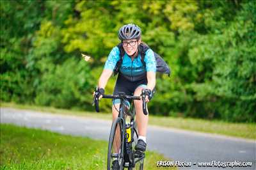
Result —
[{"label": "smiling woman in helmet and glasses riding the bicycle", "polygon": [[[118,92],[125,92],[127,95],[140,96],[141,89],[147,89],[147,97],[145,101],[149,102],[156,85],[156,59],[154,57],[154,52],[151,49],[148,49],[145,52],[144,65],[143,61],[141,61],[141,54],[139,52],[141,29],[135,24],[122,26],[118,31],[118,38],[124,49],[124,56],[122,56],[122,64],[120,65],[120,68],[118,68],[118,77],[113,95],[117,95]],[[98,92],[101,95],[104,95],[104,88],[109,77],[113,74],[113,70],[119,60],[120,50],[118,47],[113,47],[99,79]],[[101,98],[101,96],[99,98]],[[139,134],[136,150],[144,152],[147,148],[146,135],[148,114],[143,114],[142,100],[134,100],[134,105]],[[113,100],[113,121],[118,117],[119,106],[120,100]],[[115,167],[115,162],[113,162],[113,167]]]}]

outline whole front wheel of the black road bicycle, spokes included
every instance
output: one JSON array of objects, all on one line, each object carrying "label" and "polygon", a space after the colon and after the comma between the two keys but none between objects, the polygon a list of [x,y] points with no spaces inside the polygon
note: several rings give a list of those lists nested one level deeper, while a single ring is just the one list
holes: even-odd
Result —
[{"label": "whole front wheel of the black road bicycle, spokes included", "polygon": [[111,170],[113,161],[118,161],[118,169],[124,169],[124,123],[116,118],[111,127],[108,143],[108,170]]}]

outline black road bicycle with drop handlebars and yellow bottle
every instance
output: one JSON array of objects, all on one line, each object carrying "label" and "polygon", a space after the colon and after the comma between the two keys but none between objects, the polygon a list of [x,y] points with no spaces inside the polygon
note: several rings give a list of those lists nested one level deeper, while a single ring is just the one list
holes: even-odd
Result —
[{"label": "black road bicycle with drop handlebars and yellow bottle", "polygon": [[[95,89],[93,105],[95,104],[95,110],[99,112],[99,98],[97,98],[97,95],[97,89]],[[145,153],[135,150],[138,142],[138,130],[135,122],[136,112],[133,100],[142,99],[143,113],[147,115],[145,97],[145,89],[142,89],[140,97],[125,95],[124,92],[119,92],[118,95],[102,96],[102,98],[120,99],[118,118],[113,121],[109,135],[108,170],[111,169],[114,160],[118,161],[118,169],[124,169],[125,167],[129,170],[143,169]]]}]

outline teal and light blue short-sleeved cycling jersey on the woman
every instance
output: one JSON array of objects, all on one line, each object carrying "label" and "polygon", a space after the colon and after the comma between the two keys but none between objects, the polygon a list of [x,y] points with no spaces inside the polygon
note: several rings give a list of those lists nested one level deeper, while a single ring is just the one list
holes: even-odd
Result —
[{"label": "teal and light blue short-sleeved cycling jersey on the woman", "polygon": [[[119,49],[118,47],[114,47],[109,53],[104,69],[113,71],[119,59]],[[146,63],[146,68],[143,66],[143,63],[141,62],[140,54],[132,61],[132,59],[125,52],[122,65],[120,66],[120,72],[127,76],[141,75],[145,72],[156,72],[156,59],[154,56],[154,52],[151,49],[148,49],[146,51],[144,61]]]}]

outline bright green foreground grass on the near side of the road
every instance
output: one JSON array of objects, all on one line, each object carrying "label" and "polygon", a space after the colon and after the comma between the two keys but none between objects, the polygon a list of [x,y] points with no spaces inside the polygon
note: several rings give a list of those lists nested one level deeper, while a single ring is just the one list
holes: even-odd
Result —
[{"label": "bright green foreground grass on the near side of the road", "polygon": [[[106,169],[106,141],[8,124],[0,139],[0,169]],[[159,169],[157,160],[167,159],[147,151],[145,169]]]}]

